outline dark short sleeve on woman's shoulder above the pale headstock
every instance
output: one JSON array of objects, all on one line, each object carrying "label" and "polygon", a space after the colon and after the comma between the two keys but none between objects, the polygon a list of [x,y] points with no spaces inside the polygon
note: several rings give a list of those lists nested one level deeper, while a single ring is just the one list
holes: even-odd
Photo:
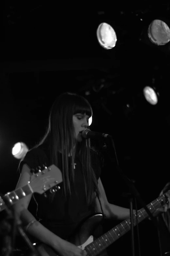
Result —
[{"label": "dark short sleeve on woman's shoulder above the pale headstock", "polygon": [[43,164],[48,166],[48,158],[45,152],[40,148],[35,148],[28,151],[24,159],[20,162],[19,171],[22,171],[23,165],[27,164],[29,168],[36,169],[38,166],[42,167]]}]

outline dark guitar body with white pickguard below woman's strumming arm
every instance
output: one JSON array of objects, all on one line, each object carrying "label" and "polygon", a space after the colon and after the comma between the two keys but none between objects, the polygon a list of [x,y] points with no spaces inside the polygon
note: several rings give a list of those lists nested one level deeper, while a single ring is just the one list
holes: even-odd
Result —
[{"label": "dark guitar body with white pickguard below woman's strumming arm", "polygon": [[[94,241],[95,237],[92,234],[94,233],[95,228],[99,225],[102,219],[102,214],[95,214],[90,216],[78,227],[75,234],[68,241],[84,250],[85,246]],[[55,252],[52,248],[45,244],[40,244],[37,247],[37,250],[39,251],[41,256],[58,255],[57,252]]]}]

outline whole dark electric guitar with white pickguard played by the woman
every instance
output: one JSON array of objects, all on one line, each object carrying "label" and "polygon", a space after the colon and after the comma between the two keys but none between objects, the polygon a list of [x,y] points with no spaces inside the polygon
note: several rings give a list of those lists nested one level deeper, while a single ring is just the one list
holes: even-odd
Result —
[{"label": "whole dark electric guitar with white pickguard played by the woman", "polygon": [[[166,193],[170,195],[170,190],[168,190]],[[156,209],[162,207],[162,204],[164,204],[166,201],[166,196],[163,194],[156,200],[149,203],[147,208],[151,213],[153,213]],[[147,217],[148,214],[144,208],[138,210],[137,216],[136,214],[133,214],[133,225],[136,226],[137,222],[139,223]],[[115,226],[113,229],[95,239],[92,235],[93,231],[102,219],[102,214],[95,214],[86,219],[79,227],[76,234],[69,240],[69,242],[73,243],[82,250],[86,250],[88,256],[96,256],[131,229],[131,220],[128,218]],[[41,244],[41,247],[43,247],[43,250],[45,250],[47,253],[44,255],[58,255],[57,252],[45,244]]]}]

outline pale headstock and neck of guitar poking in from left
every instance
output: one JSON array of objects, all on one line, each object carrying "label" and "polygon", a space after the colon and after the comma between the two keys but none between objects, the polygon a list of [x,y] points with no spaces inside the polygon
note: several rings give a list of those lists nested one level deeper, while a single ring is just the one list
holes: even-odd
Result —
[{"label": "pale headstock and neck of guitar poking in from left", "polygon": [[35,192],[39,194],[44,193],[45,197],[47,197],[45,192],[50,189],[50,192],[54,193],[60,189],[58,184],[60,184],[62,181],[62,173],[55,165],[51,165],[48,168],[45,166],[42,171],[39,167],[38,173],[31,175],[31,180],[28,182],[28,184],[12,192],[8,192],[2,198],[0,197],[0,212],[5,209],[5,202],[7,202],[10,206]]}]

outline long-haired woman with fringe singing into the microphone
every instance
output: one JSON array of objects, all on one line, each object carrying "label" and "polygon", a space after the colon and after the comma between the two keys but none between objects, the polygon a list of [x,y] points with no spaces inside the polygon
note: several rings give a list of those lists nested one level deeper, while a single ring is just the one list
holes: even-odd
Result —
[{"label": "long-haired woman with fringe singing into the microphone", "polygon": [[36,216],[27,209],[31,195],[14,205],[26,231],[41,242],[41,255],[48,255],[45,245],[56,255],[87,255],[69,242],[85,218],[102,211],[107,219],[123,220],[130,216],[129,209],[108,202],[100,180],[98,154],[90,146],[90,140],[81,136],[91,116],[92,108],[84,97],[69,92],[61,94],[51,108],[46,134],[20,163],[17,188],[30,181],[31,169],[43,164],[47,167],[54,164],[62,172],[60,190],[47,198],[35,195]]}]

